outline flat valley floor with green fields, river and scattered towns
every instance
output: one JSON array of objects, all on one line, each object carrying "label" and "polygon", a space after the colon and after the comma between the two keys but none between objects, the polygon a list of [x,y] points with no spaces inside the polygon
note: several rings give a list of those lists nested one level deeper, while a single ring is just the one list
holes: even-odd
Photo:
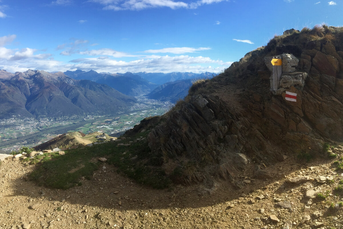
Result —
[{"label": "flat valley floor with green fields, river and scattered towns", "polygon": [[87,121],[72,120],[56,122],[49,126],[41,125],[37,128],[23,129],[19,128],[19,126],[11,126],[0,131],[0,149],[9,148],[14,145],[32,147],[36,146],[38,142],[45,142],[59,134],[73,131],[81,131],[84,134],[95,131],[102,131],[106,134],[118,134],[139,124],[145,117],[162,115],[166,111],[166,108],[137,110],[120,115],[97,116],[97,118]]}]

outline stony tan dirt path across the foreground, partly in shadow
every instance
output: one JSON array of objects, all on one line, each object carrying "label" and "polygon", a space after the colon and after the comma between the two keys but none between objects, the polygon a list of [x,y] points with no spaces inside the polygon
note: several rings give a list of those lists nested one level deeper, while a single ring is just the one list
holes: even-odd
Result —
[{"label": "stony tan dirt path across the foreground, partly in shadow", "polygon": [[[255,180],[253,170],[246,170],[235,178],[245,180],[243,188],[235,190],[228,181],[218,181],[217,188],[205,196],[198,195],[205,190],[201,185],[177,185],[168,190],[143,187],[121,176],[107,163],[91,180],[81,178],[80,186],[49,189],[27,179],[35,165],[5,160],[0,165],[0,229],[266,229],[283,228],[286,221],[291,221],[292,228],[340,229],[343,210],[338,203],[343,196],[336,194],[334,187],[343,174],[335,170],[335,160],[298,164],[296,156],[288,155],[283,162],[266,169],[274,179]],[[285,182],[297,176],[309,176],[310,180],[301,184]],[[318,176],[324,176],[325,182],[317,182]],[[314,197],[309,201],[305,193],[312,189],[326,198]],[[278,205],[287,205],[287,201],[291,208]]]}]

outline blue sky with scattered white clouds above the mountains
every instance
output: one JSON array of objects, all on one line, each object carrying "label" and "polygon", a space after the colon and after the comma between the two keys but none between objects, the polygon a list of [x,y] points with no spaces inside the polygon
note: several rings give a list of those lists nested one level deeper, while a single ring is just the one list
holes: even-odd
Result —
[{"label": "blue sky with scattered white clouds above the mountains", "polygon": [[221,72],[284,30],[343,26],[342,1],[0,0],[0,69]]}]

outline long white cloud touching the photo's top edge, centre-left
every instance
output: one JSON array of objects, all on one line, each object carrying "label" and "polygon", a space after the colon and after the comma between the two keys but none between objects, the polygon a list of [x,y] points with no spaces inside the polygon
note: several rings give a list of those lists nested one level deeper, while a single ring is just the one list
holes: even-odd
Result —
[{"label": "long white cloud touching the photo's top edge, centre-left", "polygon": [[148,8],[168,7],[170,9],[187,8],[196,9],[204,4],[213,4],[228,0],[199,0],[196,2],[186,3],[173,0],[89,0],[105,5],[105,10],[143,10]]}]

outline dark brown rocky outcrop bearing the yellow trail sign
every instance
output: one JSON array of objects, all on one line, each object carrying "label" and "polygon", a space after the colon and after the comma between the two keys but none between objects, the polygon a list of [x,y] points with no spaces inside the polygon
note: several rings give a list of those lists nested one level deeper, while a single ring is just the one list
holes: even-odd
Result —
[{"label": "dark brown rocky outcrop bearing the yellow trail sign", "polygon": [[[263,167],[284,153],[322,153],[324,142],[343,139],[342,39],[342,28],[327,26],[273,38],[220,76],[193,85],[185,102],[152,129],[149,147],[178,182],[224,178],[236,186],[245,169],[268,178]],[[264,58],[283,53],[298,65],[275,93]],[[286,91],[296,101],[287,100]]]}]

